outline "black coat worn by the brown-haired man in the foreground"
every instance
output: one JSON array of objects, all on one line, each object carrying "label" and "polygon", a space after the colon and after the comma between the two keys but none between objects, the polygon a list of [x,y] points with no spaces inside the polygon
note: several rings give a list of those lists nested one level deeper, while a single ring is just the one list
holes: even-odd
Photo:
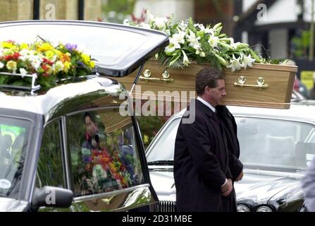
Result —
[{"label": "black coat worn by the brown-haired man in the foreground", "polygon": [[[183,118],[188,117],[188,112],[189,109]],[[174,179],[178,211],[226,210],[221,186],[232,175],[228,167],[226,137],[221,131],[218,116],[195,100],[194,122],[183,124],[182,119],[175,139]]]}]

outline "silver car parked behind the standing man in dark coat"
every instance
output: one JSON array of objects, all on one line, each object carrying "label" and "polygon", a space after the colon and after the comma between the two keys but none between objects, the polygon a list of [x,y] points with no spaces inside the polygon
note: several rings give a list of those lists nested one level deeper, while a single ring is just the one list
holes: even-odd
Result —
[{"label": "silver car parked behind the standing man in dark coat", "polygon": [[[315,155],[315,105],[290,109],[228,107],[237,122],[242,181],[235,183],[241,212],[302,211],[300,180]],[[178,124],[174,114],[147,148],[152,184],[160,211],[175,210],[173,155]]]}]

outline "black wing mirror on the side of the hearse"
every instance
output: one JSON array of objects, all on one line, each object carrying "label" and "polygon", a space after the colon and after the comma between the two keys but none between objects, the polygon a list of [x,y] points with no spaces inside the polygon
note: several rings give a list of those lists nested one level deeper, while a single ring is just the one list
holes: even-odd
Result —
[{"label": "black wing mirror on the side of the hearse", "polygon": [[35,189],[32,198],[32,206],[51,208],[68,208],[73,201],[73,191],[61,189],[54,186],[44,186],[42,189]]}]

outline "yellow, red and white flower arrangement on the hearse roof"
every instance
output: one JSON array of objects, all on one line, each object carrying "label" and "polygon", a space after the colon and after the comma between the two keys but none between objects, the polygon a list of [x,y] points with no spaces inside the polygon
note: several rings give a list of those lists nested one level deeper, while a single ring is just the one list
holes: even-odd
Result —
[{"label": "yellow, red and white flower arrangement on the hearse roof", "polygon": [[30,85],[35,77],[41,88],[51,88],[58,81],[91,74],[94,66],[76,44],[60,42],[54,46],[41,37],[32,43],[0,42],[0,85]]}]

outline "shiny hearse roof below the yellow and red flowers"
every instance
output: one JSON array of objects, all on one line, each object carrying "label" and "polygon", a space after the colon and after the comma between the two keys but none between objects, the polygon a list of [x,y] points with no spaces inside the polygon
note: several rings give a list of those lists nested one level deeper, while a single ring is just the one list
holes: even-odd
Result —
[{"label": "shiny hearse roof below the yellow and red flowers", "polygon": [[58,85],[42,95],[0,92],[0,109],[42,114],[49,121],[63,114],[97,107],[119,106],[125,87],[115,80],[93,76],[86,81]]}]

